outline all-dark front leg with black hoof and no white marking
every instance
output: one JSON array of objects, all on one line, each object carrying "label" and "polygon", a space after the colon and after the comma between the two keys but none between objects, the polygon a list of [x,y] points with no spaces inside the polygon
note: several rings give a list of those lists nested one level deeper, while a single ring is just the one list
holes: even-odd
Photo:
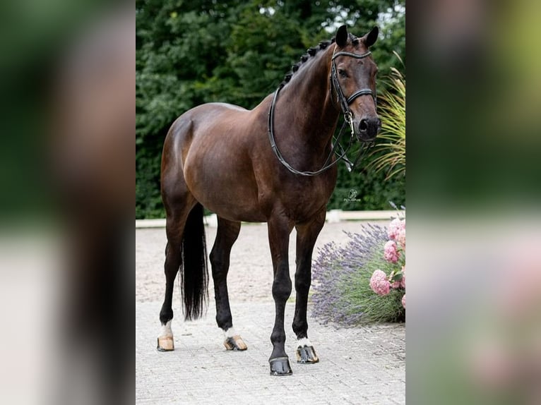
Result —
[{"label": "all-dark front leg with black hoof and no white marking", "polygon": [[287,219],[272,218],[268,221],[268,241],[271,246],[274,270],[273,298],[276,312],[273,333],[271,334],[273,352],[268,360],[271,364],[271,375],[292,374],[290,361],[285,353],[284,330],[285,303],[287,298],[290,298],[292,288],[287,258],[292,229],[293,225]]}]

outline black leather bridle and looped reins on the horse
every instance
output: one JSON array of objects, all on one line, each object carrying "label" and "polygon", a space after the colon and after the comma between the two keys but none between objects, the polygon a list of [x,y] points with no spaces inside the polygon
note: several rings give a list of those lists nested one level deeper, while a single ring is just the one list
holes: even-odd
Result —
[{"label": "black leather bridle and looped reins on the horse", "polygon": [[[335,51],[336,51],[336,48],[335,48]],[[338,52],[337,54],[335,54],[333,52],[333,57],[331,59],[331,62],[332,62],[332,65],[331,65],[331,99],[333,99],[332,92],[333,92],[333,89],[334,89],[335,92],[336,92],[337,98],[338,98],[338,103],[340,104],[340,109],[342,110],[342,113],[344,114],[344,123],[342,125],[342,128],[340,128],[340,132],[338,133],[338,137],[335,137],[333,135],[333,141],[334,141],[333,148],[332,148],[331,152],[329,153],[327,159],[325,160],[325,163],[323,163],[323,166],[319,170],[316,170],[316,171],[299,171],[299,170],[295,169],[294,167],[292,167],[289,163],[287,163],[286,160],[284,159],[283,155],[280,153],[280,150],[278,150],[278,145],[276,145],[276,140],[274,138],[274,110],[275,110],[275,107],[276,107],[276,100],[278,99],[278,93],[280,92],[282,87],[278,87],[278,89],[274,92],[273,102],[271,102],[271,108],[268,110],[268,125],[267,125],[268,140],[271,142],[271,148],[273,149],[274,154],[278,158],[278,161],[281,164],[283,164],[283,166],[287,170],[291,171],[293,174],[298,174],[299,176],[317,176],[318,174],[323,173],[323,171],[331,169],[331,167],[333,167],[335,164],[340,162],[340,160],[343,160],[346,167],[347,167],[347,170],[352,171],[355,168],[355,165],[359,162],[359,160],[362,159],[362,157],[364,157],[364,155],[366,155],[367,150],[369,150],[369,148],[374,144],[373,142],[369,142],[369,143],[364,142],[364,143],[362,143],[361,147],[360,147],[360,149],[358,151],[357,157],[355,158],[355,161],[351,162],[350,159],[347,159],[346,153],[350,150],[350,147],[353,144],[353,141],[355,140],[355,128],[353,128],[353,116],[352,116],[352,112],[350,110],[350,104],[353,102],[353,100],[355,100],[359,96],[371,95],[372,98],[374,99],[374,104],[377,107],[376,95],[370,89],[361,89],[361,90],[357,90],[355,93],[350,95],[350,97],[346,98],[345,95],[344,95],[344,92],[342,90],[342,87],[340,87],[340,82],[338,81],[338,75],[336,73],[336,64],[335,64],[335,61],[334,61],[338,56],[350,56],[350,57],[355,58],[355,59],[362,59],[362,58],[365,58],[365,57],[369,56],[369,54],[371,54],[371,52],[366,52],[364,54],[352,54],[350,52]],[[346,123],[348,123],[349,126],[350,126],[351,135],[350,135],[350,139],[349,139],[349,141],[347,143],[347,147],[344,150],[342,145],[340,145],[339,140],[340,140],[340,137],[342,136],[342,133],[344,131]],[[333,155],[337,155],[338,157],[333,162],[329,163],[329,160],[331,160]]]}]

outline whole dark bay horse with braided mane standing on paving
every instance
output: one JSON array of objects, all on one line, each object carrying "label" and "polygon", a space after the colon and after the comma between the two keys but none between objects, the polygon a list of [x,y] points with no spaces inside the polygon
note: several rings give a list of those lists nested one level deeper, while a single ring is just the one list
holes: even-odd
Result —
[{"label": "whole dark bay horse with braided mane standing on paving", "polygon": [[377,36],[377,27],[355,37],[343,25],[333,40],[308,49],[278,90],[254,109],[209,103],[174,121],[165,138],[161,167],[167,246],[158,350],[174,349],[172,294],[177,273],[182,277],[185,320],[201,317],[206,307],[203,207],[207,207],[218,216],[210,264],[216,322],[225,332],[226,349],[246,349],[233,328],[227,294],[231,248],[241,222],[267,222],[275,301],[271,375],[292,373],[285,352],[284,311],[292,291],[287,252],[294,227],[297,299],[292,327],[298,339],[297,361],[319,361],[308,339],[307,301],[312,251],[336,183],[339,159],[333,155],[338,141],[333,143],[333,133],[340,112],[350,126],[351,141],[371,142],[379,133],[377,67],[369,51]]}]

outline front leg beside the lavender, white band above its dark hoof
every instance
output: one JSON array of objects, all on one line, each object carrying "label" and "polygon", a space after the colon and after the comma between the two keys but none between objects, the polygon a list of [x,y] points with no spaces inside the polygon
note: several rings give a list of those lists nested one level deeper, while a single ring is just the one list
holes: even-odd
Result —
[{"label": "front leg beside the lavender, white band above its dark hoof", "polygon": [[310,364],[319,361],[314,346],[308,339],[307,305],[311,284],[311,260],[314,244],[325,224],[325,210],[321,210],[314,219],[304,224],[297,224],[297,270],[295,272],[295,318],[293,332],[297,335],[297,363]]}]

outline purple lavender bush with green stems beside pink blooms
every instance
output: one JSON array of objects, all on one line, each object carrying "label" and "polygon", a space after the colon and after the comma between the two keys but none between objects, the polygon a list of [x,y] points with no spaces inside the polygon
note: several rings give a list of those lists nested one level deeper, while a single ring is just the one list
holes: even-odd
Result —
[{"label": "purple lavender bush with green stems beside pink blooms", "polygon": [[382,255],[382,246],[388,241],[386,229],[364,224],[361,233],[347,236],[350,241],[345,246],[327,243],[314,261],[312,315],[323,323],[341,325],[405,320],[403,291],[379,296],[370,286],[374,270],[392,271],[393,265]]}]

